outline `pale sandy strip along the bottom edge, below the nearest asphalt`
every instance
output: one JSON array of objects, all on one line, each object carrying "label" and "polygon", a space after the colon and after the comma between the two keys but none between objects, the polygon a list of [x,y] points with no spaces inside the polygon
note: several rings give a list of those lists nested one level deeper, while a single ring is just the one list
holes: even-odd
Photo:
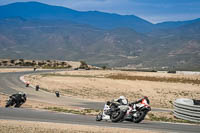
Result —
[{"label": "pale sandy strip along the bottom edge, below the nearest asphalt", "polygon": [[58,124],[47,122],[29,122],[1,120],[1,133],[158,133],[158,131],[107,128],[85,125]]}]

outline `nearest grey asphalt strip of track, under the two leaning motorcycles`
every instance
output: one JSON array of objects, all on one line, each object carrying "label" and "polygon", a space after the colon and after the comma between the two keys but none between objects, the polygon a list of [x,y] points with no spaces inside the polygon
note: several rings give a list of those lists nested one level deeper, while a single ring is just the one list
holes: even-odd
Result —
[{"label": "nearest grey asphalt strip of track, under the two leaning motorcycles", "polygon": [[49,111],[38,111],[23,108],[0,108],[0,119],[6,120],[25,120],[53,123],[66,123],[77,125],[89,125],[100,127],[119,127],[130,129],[142,129],[151,131],[162,131],[169,133],[199,133],[200,126],[191,124],[172,124],[143,121],[135,124],[132,122],[112,123],[110,121],[95,121],[94,116],[64,114]]}]

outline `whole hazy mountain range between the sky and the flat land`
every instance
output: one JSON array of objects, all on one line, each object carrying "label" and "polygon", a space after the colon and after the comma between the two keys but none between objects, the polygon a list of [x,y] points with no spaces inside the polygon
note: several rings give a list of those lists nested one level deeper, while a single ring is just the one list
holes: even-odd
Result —
[{"label": "whole hazy mountain range between the sky and the flat land", "polygon": [[[84,60],[98,66],[200,70],[199,19],[154,25],[139,18],[145,23],[132,21],[134,16],[78,12],[37,2],[1,6],[0,12],[0,58]],[[98,15],[102,15],[102,27],[96,23]],[[108,16],[116,18],[109,20]],[[137,27],[141,31],[135,23],[144,25]],[[110,24],[113,25],[109,27]],[[145,28],[146,24],[150,28]]]}]

